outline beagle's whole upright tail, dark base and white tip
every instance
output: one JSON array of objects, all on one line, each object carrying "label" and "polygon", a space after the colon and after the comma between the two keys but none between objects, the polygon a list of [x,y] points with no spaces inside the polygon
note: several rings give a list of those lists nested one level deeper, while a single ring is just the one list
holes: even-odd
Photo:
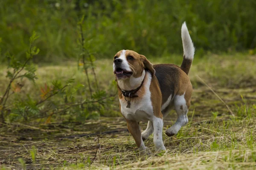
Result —
[{"label": "beagle's whole upright tail, dark base and white tip", "polygon": [[195,47],[190,38],[188,28],[186,27],[186,22],[182,24],[181,27],[181,39],[183,44],[183,61],[180,65],[181,70],[183,70],[186,74],[189,74],[190,66],[192,65],[192,61],[194,58]]}]

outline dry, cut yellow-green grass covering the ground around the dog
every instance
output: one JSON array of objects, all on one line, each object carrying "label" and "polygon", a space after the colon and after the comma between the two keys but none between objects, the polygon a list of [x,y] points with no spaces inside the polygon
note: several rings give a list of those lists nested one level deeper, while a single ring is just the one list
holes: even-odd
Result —
[{"label": "dry, cut yellow-green grass covering the ground around the dog", "polygon": [[[174,62],[178,65],[181,60],[180,56],[150,59],[154,64]],[[255,169],[255,61],[256,56],[243,54],[195,57],[189,73],[194,87],[188,113],[189,124],[182,127],[176,136],[168,137],[163,133],[167,153],[154,154],[152,136],[145,141],[151,154],[143,156],[137,151],[134,139],[127,131],[101,134],[126,128],[116,100],[113,112],[117,117],[102,116],[84,122],[69,122],[61,118],[54,119],[50,124],[35,121],[29,125],[20,122],[1,127],[0,168]],[[108,89],[114,79],[112,61],[102,59],[96,65],[96,74],[100,76],[99,84],[101,88]],[[1,72],[3,73],[3,69]],[[37,74],[37,85],[24,82],[24,91],[33,93],[34,97],[39,95],[38,88],[52,79],[74,77],[77,82],[84,83],[86,88],[84,73],[78,71],[73,62],[38,66]],[[235,116],[230,114],[226,105],[196,75],[224,100]],[[4,74],[0,76],[0,80],[6,81]],[[1,85],[2,90],[5,83]],[[176,117],[173,111],[169,113],[164,120],[163,131],[175,122]],[[141,126],[144,130],[146,123],[141,123]],[[65,136],[83,133],[97,135],[63,139]],[[99,138],[99,143],[96,137]]]}]

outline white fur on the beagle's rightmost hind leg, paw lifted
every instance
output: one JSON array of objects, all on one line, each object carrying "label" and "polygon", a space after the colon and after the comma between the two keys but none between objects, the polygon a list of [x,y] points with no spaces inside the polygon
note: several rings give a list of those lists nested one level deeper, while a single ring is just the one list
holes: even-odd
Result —
[{"label": "white fur on the beagle's rightmost hind leg, paw lifted", "polygon": [[[177,132],[180,130],[180,128],[182,126],[186,125],[189,121],[188,117],[187,117],[188,108],[187,108],[186,100],[185,100],[184,96],[185,96],[185,93],[181,96],[176,95],[174,97],[174,105],[175,105],[175,110],[176,110],[178,118],[177,118],[177,121],[175,122],[175,124],[166,130],[166,133],[171,133],[173,135],[177,134]],[[181,106],[182,106],[182,109],[180,109]]]}]

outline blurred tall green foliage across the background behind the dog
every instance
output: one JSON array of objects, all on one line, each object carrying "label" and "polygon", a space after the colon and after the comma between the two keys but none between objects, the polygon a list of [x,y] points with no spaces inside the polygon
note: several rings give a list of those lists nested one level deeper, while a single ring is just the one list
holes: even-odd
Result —
[{"label": "blurred tall green foliage across the background behind the dog", "polygon": [[[83,26],[85,53],[111,58],[122,49],[146,56],[182,53],[181,24],[186,21],[198,55],[204,51],[254,50],[253,0],[44,0],[0,2],[2,51],[24,59],[28,34],[41,35],[34,62],[63,61],[79,54],[77,24]],[[81,19],[78,19],[81,18]],[[1,58],[4,60],[4,58]]]}]

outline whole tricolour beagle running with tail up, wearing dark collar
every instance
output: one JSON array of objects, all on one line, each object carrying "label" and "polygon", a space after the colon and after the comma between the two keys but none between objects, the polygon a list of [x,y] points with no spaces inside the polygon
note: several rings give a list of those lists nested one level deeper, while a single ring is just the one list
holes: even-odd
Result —
[{"label": "whole tricolour beagle running with tail up, wearing dark collar", "polygon": [[[144,140],[154,132],[156,152],[166,150],[163,139],[163,118],[171,109],[177,121],[166,130],[167,136],[177,134],[188,123],[187,113],[192,96],[188,73],[195,53],[193,42],[184,22],[181,27],[183,62],[152,65],[148,59],[131,50],[121,50],[113,60],[119,108],[137,147],[146,153]],[[140,131],[140,121],[148,121],[146,130]]]}]

